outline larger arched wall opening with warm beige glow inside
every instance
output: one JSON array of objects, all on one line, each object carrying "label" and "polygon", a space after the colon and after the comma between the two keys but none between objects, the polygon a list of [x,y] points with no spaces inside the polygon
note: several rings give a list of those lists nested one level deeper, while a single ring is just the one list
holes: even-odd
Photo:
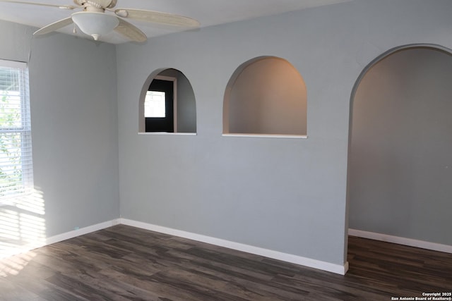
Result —
[{"label": "larger arched wall opening with warm beige glow inside", "polygon": [[285,59],[259,56],[232,74],[223,100],[223,134],[307,135],[307,90]]}]

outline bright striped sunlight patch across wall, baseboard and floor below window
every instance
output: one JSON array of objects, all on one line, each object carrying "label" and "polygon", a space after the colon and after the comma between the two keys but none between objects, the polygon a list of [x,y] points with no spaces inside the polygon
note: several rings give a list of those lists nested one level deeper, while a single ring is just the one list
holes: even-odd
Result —
[{"label": "bright striped sunlight patch across wall, baseboard and floor below window", "polygon": [[20,253],[45,245],[44,216],[39,190],[0,203],[0,276],[18,274],[35,256]]}]

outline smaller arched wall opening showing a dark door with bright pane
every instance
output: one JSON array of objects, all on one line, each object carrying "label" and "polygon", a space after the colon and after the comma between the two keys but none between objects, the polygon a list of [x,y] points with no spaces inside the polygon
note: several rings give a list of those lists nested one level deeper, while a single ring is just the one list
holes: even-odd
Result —
[{"label": "smaller arched wall opening showing a dark door with bright pane", "polygon": [[196,133],[196,101],[186,76],[173,68],[153,72],[143,85],[140,133]]}]

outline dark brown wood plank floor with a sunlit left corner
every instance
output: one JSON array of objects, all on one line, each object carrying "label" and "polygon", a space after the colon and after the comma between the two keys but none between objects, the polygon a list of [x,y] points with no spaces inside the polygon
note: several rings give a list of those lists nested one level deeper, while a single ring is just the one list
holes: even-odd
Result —
[{"label": "dark brown wood plank floor with a sunlit left corner", "polygon": [[452,254],[350,237],[345,276],[113,226],[0,261],[0,300],[391,300],[452,292]]}]

